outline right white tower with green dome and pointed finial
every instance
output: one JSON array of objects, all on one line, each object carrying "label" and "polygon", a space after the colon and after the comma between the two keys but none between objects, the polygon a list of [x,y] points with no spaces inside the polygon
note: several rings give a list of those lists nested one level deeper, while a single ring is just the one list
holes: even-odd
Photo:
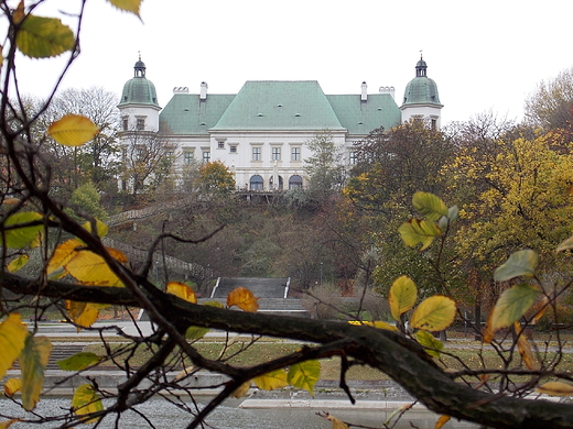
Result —
[{"label": "right white tower with green dome and pointed finial", "polygon": [[440,129],[440,111],[444,107],[440,103],[437,85],[426,74],[428,65],[420,55],[415,65],[415,77],[408,82],[400,110],[402,122],[411,119],[429,121],[433,129]]}]

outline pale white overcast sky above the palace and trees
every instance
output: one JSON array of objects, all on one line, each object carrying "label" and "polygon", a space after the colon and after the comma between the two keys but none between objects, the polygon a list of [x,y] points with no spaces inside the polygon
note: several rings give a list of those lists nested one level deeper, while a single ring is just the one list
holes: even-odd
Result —
[{"label": "pale white overcast sky above the palace and trees", "polygon": [[[145,0],[141,22],[90,0],[64,87],[102,86],[119,98],[141,52],[162,107],[173,87],[197,94],[203,80],[212,94],[237,94],[246,80],[301,79],[325,94],[393,86],[400,105],[422,51],[442,123],[489,109],[519,120],[537,85],[573,66],[572,14],[571,0]],[[24,92],[50,90],[56,67],[22,58]]]}]

